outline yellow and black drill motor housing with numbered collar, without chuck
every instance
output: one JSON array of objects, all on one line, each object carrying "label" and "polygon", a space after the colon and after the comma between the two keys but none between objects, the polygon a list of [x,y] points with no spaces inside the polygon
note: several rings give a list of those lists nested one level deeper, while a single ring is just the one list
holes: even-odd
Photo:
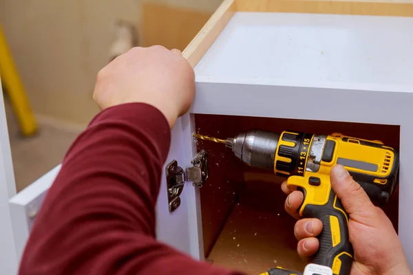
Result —
[{"label": "yellow and black drill motor housing with numbered collar, without chuck", "polygon": [[330,175],[335,164],[342,164],[376,204],[388,203],[396,189],[399,153],[378,140],[340,133],[313,135],[284,131],[277,149],[274,164],[277,175],[304,175],[306,171]]}]

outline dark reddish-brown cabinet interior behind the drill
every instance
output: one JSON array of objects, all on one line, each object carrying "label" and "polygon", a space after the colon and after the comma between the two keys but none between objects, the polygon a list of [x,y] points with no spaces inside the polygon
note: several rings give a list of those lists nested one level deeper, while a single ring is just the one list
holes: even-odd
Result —
[{"label": "dark reddish-brown cabinet interior behind the drill", "polygon": [[[226,139],[259,129],[282,133],[332,135],[341,133],[361,140],[377,140],[399,150],[400,126],[313,120],[196,114],[196,133]],[[356,140],[358,142],[358,140]],[[348,142],[353,142],[348,140]],[[237,159],[224,144],[196,140],[197,150],[209,153],[209,178],[200,188],[204,254],[213,265],[260,274],[282,266],[302,271],[306,263],[297,254],[295,218],[284,210],[284,177],[253,168]],[[385,162],[387,164],[387,162]],[[386,166],[383,164],[382,168]],[[383,179],[375,179],[383,184]],[[381,207],[396,231],[399,219],[399,184]]]}]

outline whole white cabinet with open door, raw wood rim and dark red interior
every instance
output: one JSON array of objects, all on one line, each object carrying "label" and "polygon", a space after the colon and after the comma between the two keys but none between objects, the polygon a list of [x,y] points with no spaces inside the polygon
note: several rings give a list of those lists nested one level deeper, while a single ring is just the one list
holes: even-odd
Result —
[{"label": "whole white cabinet with open door, raw wood rim and dark red interior", "polygon": [[[195,142],[192,134],[225,138],[252,127],[341,131],[399,148],[399,191],[385,211],[413,267],[411,2],[226,0],[183,54],[195,67],[196,96],[173,129],[167,164],[176,159],[191,167],[203,148],[209,178],[202,188],[185,184],[180,206],[169,212],[162,175],[160,240],[195,259],[206,255],[247,272],[277,265],[300,270],[281,179],[244,166],[219,144]],[[58,170],[10,199],[18,259]]]}]

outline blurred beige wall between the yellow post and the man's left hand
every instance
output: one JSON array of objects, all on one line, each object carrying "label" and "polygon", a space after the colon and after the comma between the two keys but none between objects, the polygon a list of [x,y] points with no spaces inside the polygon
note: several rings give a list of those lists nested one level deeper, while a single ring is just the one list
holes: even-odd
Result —
[{"label": "blurred beige wall between the yellow post and the man's left hand", "polygon": [[134,0],[1,0],[3,32],[34,113],[87,123],[114,21],[138,18]]}]

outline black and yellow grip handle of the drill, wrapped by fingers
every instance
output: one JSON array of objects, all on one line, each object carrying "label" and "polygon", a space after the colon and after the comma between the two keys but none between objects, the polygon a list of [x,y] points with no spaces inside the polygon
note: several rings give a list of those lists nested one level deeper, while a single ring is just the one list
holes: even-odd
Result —
[{"label": "black and yellow grip handle of the drill, wrapped by fingers", "polygon": [[335,192],[330,190],[324,206],[309,203],[302,213],[304,218],[320,219],[323,223],[323,230],[318,236],[319,250],[313,263],[330,267],[333,274],[350,274],[353,250],[348,235],[349,217]]}]

